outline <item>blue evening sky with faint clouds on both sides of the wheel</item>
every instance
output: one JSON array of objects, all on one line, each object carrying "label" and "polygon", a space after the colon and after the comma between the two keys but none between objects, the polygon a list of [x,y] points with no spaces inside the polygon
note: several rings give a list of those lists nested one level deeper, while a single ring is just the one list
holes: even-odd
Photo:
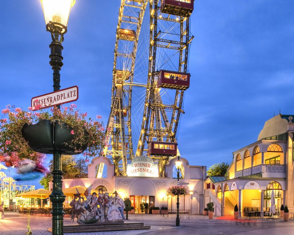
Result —
[{"label": "blue evening sky with faint clouds on both sides of the wheel", "polygon": [[[77,85],[75,104],[104,122],[120,3],[76,0],[63,43],[61,88]],[[0,109],[27,108],[31,97],[53,90],[51,37],[39,0],[0,1],[0,7]],[[255,142],[274,112],[294,114],[293,9],[293,0],[195,1],[191,86],[178,134],[190,165],[230,163],[232,152]]]}]

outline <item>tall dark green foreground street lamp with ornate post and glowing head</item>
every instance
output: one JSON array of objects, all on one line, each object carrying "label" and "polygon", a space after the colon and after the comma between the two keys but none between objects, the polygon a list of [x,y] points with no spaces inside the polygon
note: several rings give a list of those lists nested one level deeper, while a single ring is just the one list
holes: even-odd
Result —
[{"label": "tall dark green foreground street lamp with ornate post and glowing head", "polygon": [[[51,54],[49,55],[53,70],[53,88],[54,91],[60,90],[60,73],[63,65],[61,52],[64,40],[64,34],[67,32],[67,23],[71,7],[74,6],[75,0],[41,0],[46,30],[51,33],[52,42],[49,45]],[[57,106],[60,108],[60,105]],[[52,234],[63,234],[63,203],[65,195],[62,192],[62,171],[61,171],[61,151],[53,150],[53,191],[50,201],[52,203]]]}]

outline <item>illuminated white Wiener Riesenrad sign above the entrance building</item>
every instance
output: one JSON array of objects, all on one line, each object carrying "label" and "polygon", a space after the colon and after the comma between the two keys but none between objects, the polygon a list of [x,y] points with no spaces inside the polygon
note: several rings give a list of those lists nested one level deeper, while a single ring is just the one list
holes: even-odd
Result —
[{"label": "illuminated white Wiener Riesenrad sign above the entrance building", "polygon": [[146,156],[137,156],[127,166],[127,176],[158,177],[158,165]]}]

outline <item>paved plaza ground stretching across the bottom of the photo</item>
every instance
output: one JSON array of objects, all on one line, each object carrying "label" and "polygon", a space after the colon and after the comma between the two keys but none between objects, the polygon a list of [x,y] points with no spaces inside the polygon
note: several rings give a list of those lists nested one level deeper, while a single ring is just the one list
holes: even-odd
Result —
[{"label": "paved plaza ground stretching across the bottom of the photo", "polygon": [[[208,216],[181,214],[181,226],[176,227],[176,215],[132,214],[130,222],[144,222],[151,229],[110,232],[67,233],[67,235],[135,235],[135,234],[293,234],[294,221],[283,219],[266,221],[266,219],[239,220],[238,222],[223,219],[208,219]],[[5,219],[0,220],[0,235],[25,234],[30,222],[33,235],[49,235],[47,227],[51,227],[51,217],[27,216],[18,212],[5,212]],[[75,223],[75,222],[74,222]],[[64,218],[64,224],[73,224]]]}]

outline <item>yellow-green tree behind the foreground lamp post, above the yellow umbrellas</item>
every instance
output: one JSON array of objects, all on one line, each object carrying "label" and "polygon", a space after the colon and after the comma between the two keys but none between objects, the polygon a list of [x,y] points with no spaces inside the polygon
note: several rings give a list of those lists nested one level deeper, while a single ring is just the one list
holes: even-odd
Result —
[{"label": "yellow-green tree behind the foreground lamp post, above the yellow umbrellas", "polygon": [[[85,159],[77,158],[76,155],[61,155],[61,168],[64,173],[65,178],[75,178],[78,175],[82,175],[88,172],[88,165]],[[53,160],[50,160],[49,164],[50,171],[53,170]],[[49,182],[52,181],[52,175],[47,173],[40,180],[40,184],[44,186],[45,189],[49,190]]]}]

